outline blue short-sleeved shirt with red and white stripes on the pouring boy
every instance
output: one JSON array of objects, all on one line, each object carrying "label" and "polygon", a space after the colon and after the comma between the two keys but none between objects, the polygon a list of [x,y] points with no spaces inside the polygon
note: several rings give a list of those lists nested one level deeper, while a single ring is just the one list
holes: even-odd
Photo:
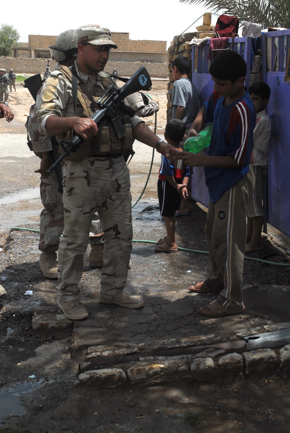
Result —
[{"label": "blue short-sleeved shirt with red and white stripes on the pouring boy", "polygon": [[215,90],[205,102],[205,122],[214,123],[209,155],[231,155],[239,166],[205,167],[205,183],[212,203],[248,173],[256,125],[256,111],[248,91],[230,105],[223,105],[223,102],[224,97]]}]

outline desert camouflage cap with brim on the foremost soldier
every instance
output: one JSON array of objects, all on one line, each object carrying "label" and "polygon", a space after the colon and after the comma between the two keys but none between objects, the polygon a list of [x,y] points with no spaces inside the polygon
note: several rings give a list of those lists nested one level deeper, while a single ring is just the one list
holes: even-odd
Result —
[{"label": "desert camouflage cap with brim on the foremost soldier", "polygon": [[98,24],[86,24],[77,30],[78,44],[111,45],[118,48],[111,39],[111,32],[107,27]]}]

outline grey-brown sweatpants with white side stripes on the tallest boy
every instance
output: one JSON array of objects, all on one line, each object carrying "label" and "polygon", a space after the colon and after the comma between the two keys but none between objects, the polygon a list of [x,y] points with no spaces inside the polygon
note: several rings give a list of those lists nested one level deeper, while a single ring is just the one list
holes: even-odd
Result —
[{"label": "grey-brown sweatpants with white side stripes on the tallest boy", "polygon": [[248,174],[216,202],[209,202],[205,236],[211,268],[205,287],[221,290],[217,301],[229,309],[243,306],[243,265],[247,232],[247,204],[254,190],[254,173]]}]

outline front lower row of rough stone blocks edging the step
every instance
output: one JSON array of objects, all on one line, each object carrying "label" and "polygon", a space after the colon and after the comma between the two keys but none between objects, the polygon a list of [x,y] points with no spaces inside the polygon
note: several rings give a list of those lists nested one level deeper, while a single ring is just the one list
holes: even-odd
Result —
[{"label": "front lower row of rough stone blocks edging the step", "polygon": [[90,384],[104,388],[117,385],[157,384],[166,381],[223,382],[235,375],[271,375],[290,370],[290,345],[277,349],[228,353],[207,349],[198,355],[143,357],[133,365],[89,370],[78,375],[75,385]]}]

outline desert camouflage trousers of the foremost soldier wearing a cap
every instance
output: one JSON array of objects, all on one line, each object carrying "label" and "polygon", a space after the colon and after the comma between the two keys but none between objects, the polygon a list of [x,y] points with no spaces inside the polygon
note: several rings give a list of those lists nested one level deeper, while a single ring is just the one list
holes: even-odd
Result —
[{"label": "desert camouflage trousers of the foremost soldier wearing a cap", "polygon": [[64,167],[63,204],[65,229],[59,243],[59,285],[64,301],[79,299],[91,220],[98,211],[104,230],[104,266],[101,295],[124,294],[132,250],[130,176],[123,156],[87,157],[67,161]]}]

